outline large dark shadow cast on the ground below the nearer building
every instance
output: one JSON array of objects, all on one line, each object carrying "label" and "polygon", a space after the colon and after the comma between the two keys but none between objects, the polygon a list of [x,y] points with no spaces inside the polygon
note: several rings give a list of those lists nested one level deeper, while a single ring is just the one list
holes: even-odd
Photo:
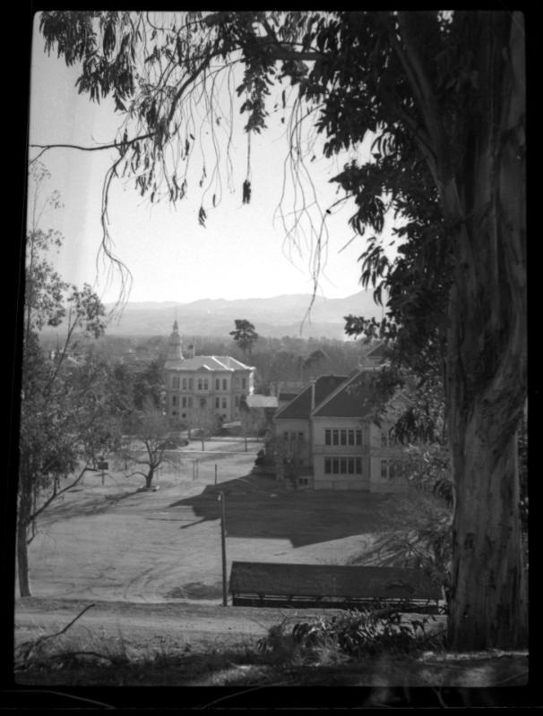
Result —
[{"label": "large dark shadow cast on the ground below the nearer building", "polygon": [[293,547],[380,533],[406,527],[398,498],[358,490],[287,490],[272,478],[249,474],[208,485],[199,495],[180,499],[169,508],[192,507],[190,529],[220,519],[224,494],[228,537],[288,539]]}]

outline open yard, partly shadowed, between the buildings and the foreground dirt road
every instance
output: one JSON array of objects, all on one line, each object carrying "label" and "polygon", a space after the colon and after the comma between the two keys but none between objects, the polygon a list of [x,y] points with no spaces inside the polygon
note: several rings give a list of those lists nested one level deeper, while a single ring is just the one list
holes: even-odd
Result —
[{"label": "open yard, partly shadowed, between the buildings and the foreground dirt road", "polygon": [[33,594],[220,603],[219,491],[228,573],[235,559],[347,564],[362,556],[371,564],[384,558],[387,537],[417,520],[404,496],[289,490],[252,475],[260,447],[213,440],[204,453],[185,450],[176,473],[159,475],[156,492],[140,491],[141,477],[112,473],[102,485],[99,473],[85,475],[39,524],[30,545]]}]

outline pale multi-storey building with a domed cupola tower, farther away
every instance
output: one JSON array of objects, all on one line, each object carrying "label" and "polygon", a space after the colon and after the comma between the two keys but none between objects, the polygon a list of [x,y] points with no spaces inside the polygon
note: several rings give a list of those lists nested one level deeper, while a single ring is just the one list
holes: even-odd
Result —
[{"label": "pale multi-storey building with a domed cupola tower, farther away", "polygon": [[188,426],[239,420],[240,405],[254,390],[254,367],[229,355],[196,355],[194,345],[184,354],[177,320],[164,371],[168,416]]}]

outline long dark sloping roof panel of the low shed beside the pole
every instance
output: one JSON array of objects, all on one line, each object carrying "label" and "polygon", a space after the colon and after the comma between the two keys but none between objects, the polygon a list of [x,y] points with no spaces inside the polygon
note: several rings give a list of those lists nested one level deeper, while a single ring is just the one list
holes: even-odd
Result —
[{"label": "long dark sloping roof panel of the low shed beside the pole", "polygon": [[420,569],[233,562],[231,594],[356,599],[439,600],[441,590]]}]

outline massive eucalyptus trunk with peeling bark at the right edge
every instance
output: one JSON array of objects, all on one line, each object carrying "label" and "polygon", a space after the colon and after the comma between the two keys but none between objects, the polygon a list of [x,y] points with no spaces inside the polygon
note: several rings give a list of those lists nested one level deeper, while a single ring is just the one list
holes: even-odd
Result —
[{"label": "massive eucalyptus trunk with peeling bark at the right edge", "polygon": [[517,465],[527,388],[524,64],[518,16],[505,27],[505,41],[502,21],[481,32],[482,111],[461,171],[441,188],[445,218],[462,217],[446,376],[456,650],[519,647],[528,628]]}]

